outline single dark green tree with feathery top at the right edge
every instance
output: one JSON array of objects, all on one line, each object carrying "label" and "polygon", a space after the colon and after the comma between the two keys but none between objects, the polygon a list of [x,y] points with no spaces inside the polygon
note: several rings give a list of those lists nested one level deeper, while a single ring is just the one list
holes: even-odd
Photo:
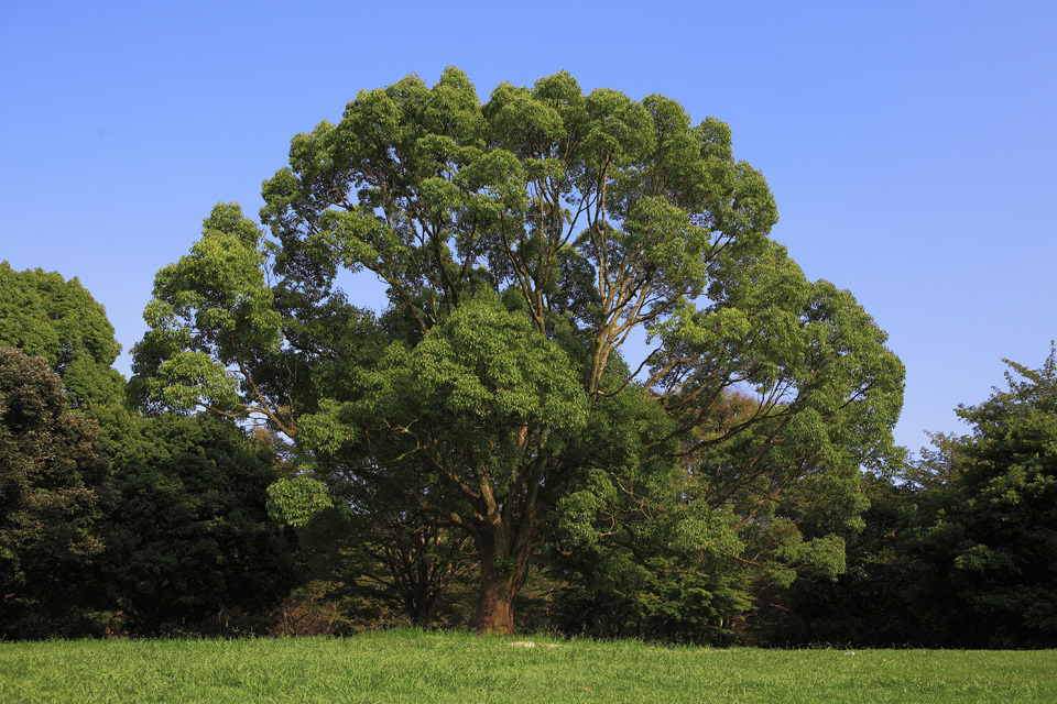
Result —
[{"label": "single dark green tree with feathery top at the right edge", "polygon": [[926,468],[948,477],[912,546],[938,645],[1057,645],[1057,352],[1006,364],[1009,389],[959,407],[971,433]]}]

